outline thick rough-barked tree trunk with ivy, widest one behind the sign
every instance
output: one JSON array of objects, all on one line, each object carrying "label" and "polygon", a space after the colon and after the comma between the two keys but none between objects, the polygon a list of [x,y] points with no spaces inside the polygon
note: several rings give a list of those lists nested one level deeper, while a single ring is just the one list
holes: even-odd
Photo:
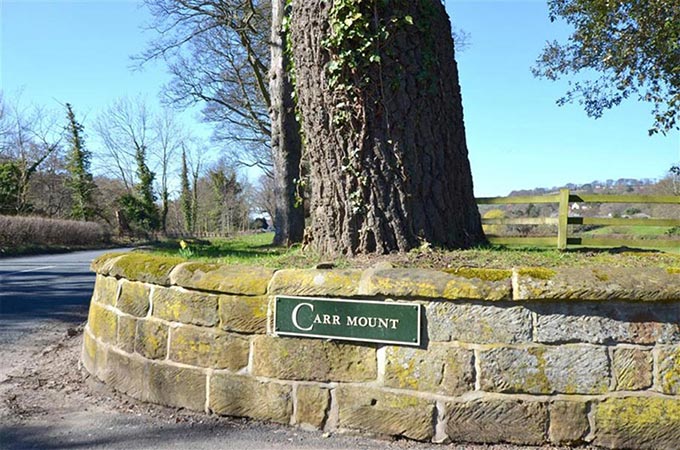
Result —
[{"label": "thick rough-barked tree trunk with ivy, widest one behind the sign", "polygon": [[[291,18],[312,245],[356,254],[484,242],[444,6],[335,3],[298,0]],[[364,27],[333,42],[331,21],[340,28],[357,22],[338,7],[351,10],[348,3]]]}]

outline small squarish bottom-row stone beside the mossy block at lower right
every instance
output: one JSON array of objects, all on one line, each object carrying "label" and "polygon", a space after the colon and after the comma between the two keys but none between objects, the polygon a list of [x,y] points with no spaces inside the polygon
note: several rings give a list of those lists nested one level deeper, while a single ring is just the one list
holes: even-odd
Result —
[{"label": "small squarish bottom-row stone beside the mossy block at lower right", "polygon": [[550,442],[557,445],[579,444],[588,434],[588,404],[555,401],[550,404]]}]

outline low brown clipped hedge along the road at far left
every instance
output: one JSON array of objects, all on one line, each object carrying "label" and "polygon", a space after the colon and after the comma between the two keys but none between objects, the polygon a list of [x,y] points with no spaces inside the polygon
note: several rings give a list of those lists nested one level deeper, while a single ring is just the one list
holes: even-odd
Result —
[{"label": "low brown clipped hedge along the road at far left", "polygon": [[94,222],[0,216],[0,249],[29,246],[93,246],[106,242],[104,228]]}]

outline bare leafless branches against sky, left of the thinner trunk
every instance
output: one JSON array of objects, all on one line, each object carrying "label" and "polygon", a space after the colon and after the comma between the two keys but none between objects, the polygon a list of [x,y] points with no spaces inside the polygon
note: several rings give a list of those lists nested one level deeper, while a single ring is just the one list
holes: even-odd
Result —
[{"label": "bare leafless branches against sky, left of the thinner trunk", "polygon": [[145,0],[158,38],[136,59],[164,60],[173,75],[165,90],[174,106],[203,104],[214,137],[232,159],[271,175],[269,14],[266,0]]}]

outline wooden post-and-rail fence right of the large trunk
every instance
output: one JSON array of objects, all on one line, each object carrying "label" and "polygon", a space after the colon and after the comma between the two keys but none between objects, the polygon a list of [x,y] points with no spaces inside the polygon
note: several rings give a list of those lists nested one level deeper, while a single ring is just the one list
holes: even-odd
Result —
[{"label": "wooden post-and-rail fence right of the large trunk", "polygon": [[569,245],[594,247],[639,247],[639,248],[680,248],[680,240],[672,239],[614,239],[608,237],[569,237],[569,225],[603,225],[603,226],[649,226],[680,227],[680,219],[625,219],[600,217],[569,217],[571,203],[644,203],[680,205],[677,195],[604,195],[604,194],[571,194],[569,189],[560,189],[558,194],[542,196],[518,197],[482,197],[477,199],[479,205],[517,205],[517,204],[557,203],[557,217],[521,217],[482,219],[484,225],[557,225],[556,237],[516,237],[487,235],[492,244],[502,245],[556,245],[565,250]]}]

